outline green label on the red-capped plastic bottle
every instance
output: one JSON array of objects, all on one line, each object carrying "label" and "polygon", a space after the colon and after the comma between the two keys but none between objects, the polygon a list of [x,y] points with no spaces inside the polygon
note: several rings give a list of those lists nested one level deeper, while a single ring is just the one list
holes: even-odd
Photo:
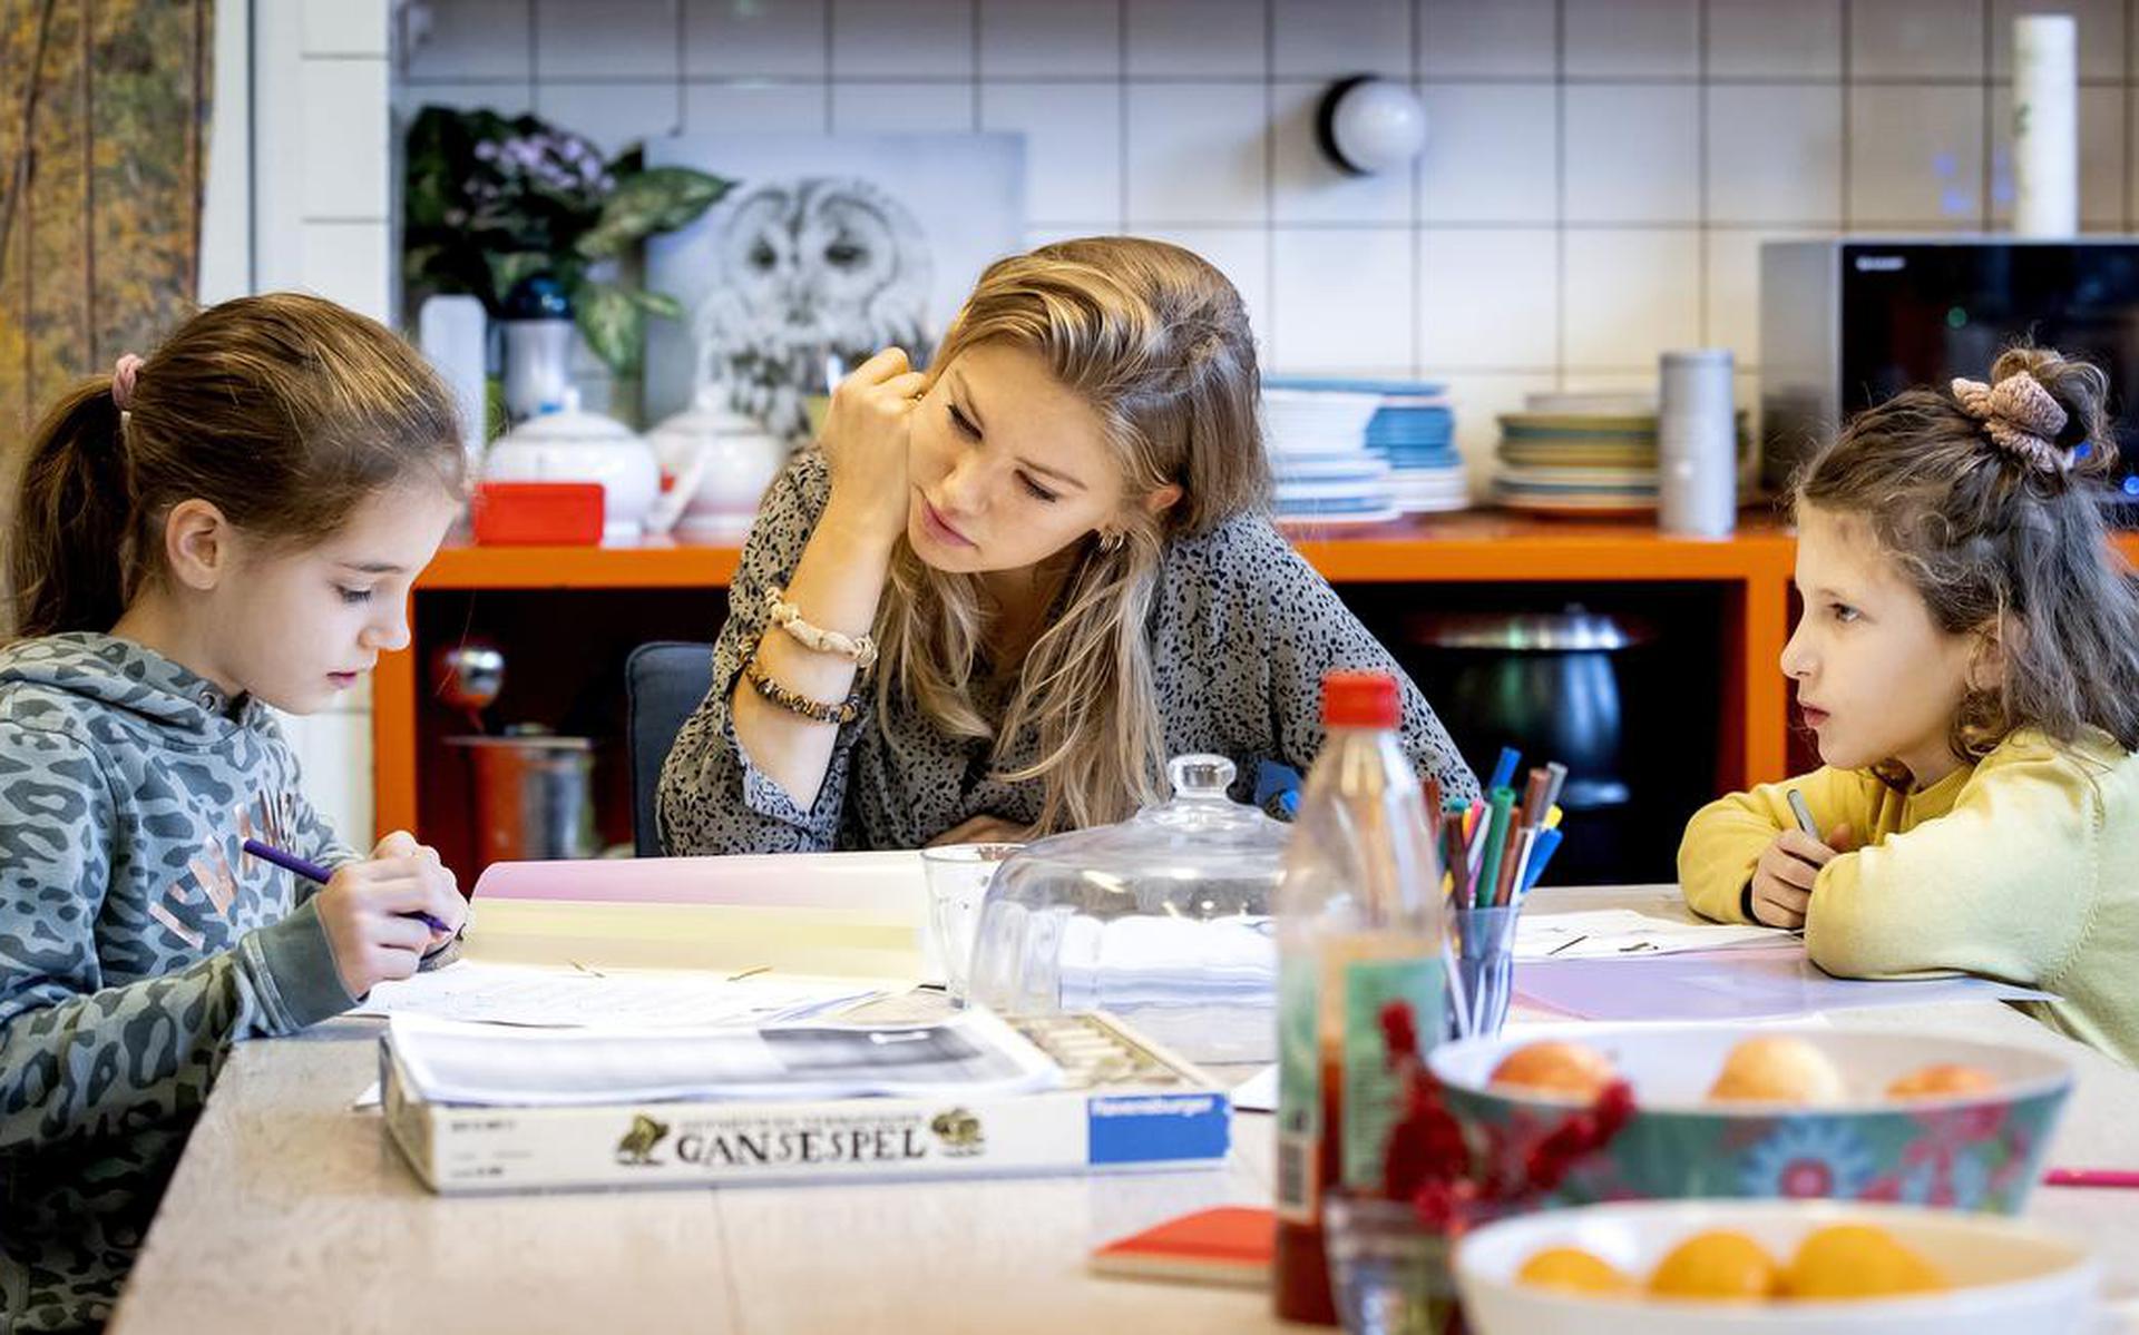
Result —
[{"label": "green label on the red-capped plastic bottle", "polygon": [[1412,1008],[1420,1057],[1446,1031],[1446,971],[1437,954],[1354,958],[1343,965],[1343,1185],[1378,1192],[1388,1132],[1403,1115],[1403,1085],[1388,1063],[1382,1010]]}]

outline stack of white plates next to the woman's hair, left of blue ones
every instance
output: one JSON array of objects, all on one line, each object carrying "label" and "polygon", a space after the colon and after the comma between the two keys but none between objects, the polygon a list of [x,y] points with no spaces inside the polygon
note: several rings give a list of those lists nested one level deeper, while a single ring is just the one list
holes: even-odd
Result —
[{"label": "stack of white plates next to the woman's hair, left of blue ones", "polygon": [[1262,428],[1277,473],[1277,518],[1386,524],[1401,511],[1388,460],[1367,449],[1378,394],[1264,385]]}]

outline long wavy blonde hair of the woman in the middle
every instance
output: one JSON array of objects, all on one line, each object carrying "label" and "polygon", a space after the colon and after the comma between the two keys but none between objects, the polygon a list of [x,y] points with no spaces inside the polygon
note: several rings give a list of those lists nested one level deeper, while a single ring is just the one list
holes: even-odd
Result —
[{"label": "long wavy blonde hair of the woman in the middle", "polygon": [[[877,708],[920,708],[952,736],[992,738],[997,766],[1035,734],[1037,757],[999,777],[1042,783],[1042,830],[1121,819],[1159,794],[1166,764],[1147,640],[1166,543],[1262,507],[1271,492],[1247,308],[1181,246],[1087,237],[988,265],[933,374],[984,342],[1037,353],[1097,411],[1125,484],[1121,537],[1087,535],[1065,554],[1057,610],[1001,725],[973,702],[990,668],[980,578],[933,569],[901,541],[877,618]],[[1166,486],[1181,498],[1151,511]]]}]

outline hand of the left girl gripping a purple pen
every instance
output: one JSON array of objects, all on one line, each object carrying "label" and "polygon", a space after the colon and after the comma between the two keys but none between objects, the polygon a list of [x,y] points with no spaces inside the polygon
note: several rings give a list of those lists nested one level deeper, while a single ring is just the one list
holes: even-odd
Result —
[{"label": "hand of the left girl gripping a purple pen", "polygon": [[[468,903],[460,899],[453,873],[438,862],[438,851],[404,830],[381,839],[370,858],[336,866],[314,903],[334,969],[351,997],[415,973],[424,954],[451,941],[468,916]],[[445,931],[436,933],[411,914],[430,914]]]}]

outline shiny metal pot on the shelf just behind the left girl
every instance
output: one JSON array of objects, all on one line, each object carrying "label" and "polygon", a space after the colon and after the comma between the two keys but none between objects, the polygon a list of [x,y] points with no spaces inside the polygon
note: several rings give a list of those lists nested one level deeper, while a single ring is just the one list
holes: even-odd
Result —
[{"label": "shiny metal pot on the shelf just behind the left girl", "polygon": [[458,736],[475,770],[477,860],[593,858],[595,742],[565,736]]}]

